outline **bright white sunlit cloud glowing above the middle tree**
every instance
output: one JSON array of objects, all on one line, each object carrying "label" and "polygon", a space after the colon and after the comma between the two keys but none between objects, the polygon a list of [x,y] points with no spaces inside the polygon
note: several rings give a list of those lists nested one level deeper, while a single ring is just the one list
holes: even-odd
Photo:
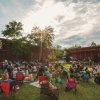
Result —
[{"label": "bright white sunlit cloud glowing above the middle tree", "polygon": [[58,25],[58,20],[61,19],[58,17],[61,17],[63,11],[65,11],[65,6],[62,2],[55,3],[53,0],[44,0],[42,6],[37,3],[34,7],[38,10],[31,10],[27,16],[23,18],[24,29],[26,32],[29,32],[34,25],[41,28],[49,25],[55,27]]}]

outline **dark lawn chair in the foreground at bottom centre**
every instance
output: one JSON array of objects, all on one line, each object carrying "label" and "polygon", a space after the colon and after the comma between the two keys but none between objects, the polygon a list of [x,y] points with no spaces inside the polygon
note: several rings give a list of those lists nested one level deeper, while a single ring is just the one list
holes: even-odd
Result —
[{"label": "dark lawn chair in the foreground at bottom centre", "polygon": [[49,90],[48,84],[41,84],[40,88],[40,100],[58,100],[58,90],[56,89],[54,92]]}]

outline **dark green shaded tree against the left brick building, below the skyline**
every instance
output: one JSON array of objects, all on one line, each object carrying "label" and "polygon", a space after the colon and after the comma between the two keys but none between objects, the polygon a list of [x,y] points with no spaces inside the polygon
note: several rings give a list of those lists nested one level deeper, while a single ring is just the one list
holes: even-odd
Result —
[{"label": "dark green shaded tree against the left brick building, below the skyline", "polygon": [[12,41],[12,54],[16,55],[16,59],[19,57],[30,57],[31,56],[31,47],[32,45],[26,40],[25,37],[20,39],[14,39]]}]

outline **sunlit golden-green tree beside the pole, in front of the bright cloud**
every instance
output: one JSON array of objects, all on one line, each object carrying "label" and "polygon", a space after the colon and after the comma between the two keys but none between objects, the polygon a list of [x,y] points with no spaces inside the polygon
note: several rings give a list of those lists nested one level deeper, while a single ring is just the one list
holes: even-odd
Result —
[{"label": "sunlit golden-green tree beside the pole, in front of the bright cloud", "polygon": [[51,26],[46,27],[45,29],[40,29],[39,27],[33,27],[31,34],[28,35],[28,39],[32,44],[50,48],[52,47],[54,34],[53,28]]}]

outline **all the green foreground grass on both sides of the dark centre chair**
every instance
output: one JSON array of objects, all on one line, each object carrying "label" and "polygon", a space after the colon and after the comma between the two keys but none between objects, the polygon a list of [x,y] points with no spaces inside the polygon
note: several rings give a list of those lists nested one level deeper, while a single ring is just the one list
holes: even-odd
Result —
[{"label": "all the green foreground grass on both sides of the dark centre chair", "polygon": [[[64,92],[65,84],[57,85],[60,89],[59,100],[100,100],[100,86],[89,81],[88,83],[81,82],[77,87],[77,94],[72,91]],[[40,89],[29,84],[23,86],[16,91],[15,100],[39,100]]]}]

